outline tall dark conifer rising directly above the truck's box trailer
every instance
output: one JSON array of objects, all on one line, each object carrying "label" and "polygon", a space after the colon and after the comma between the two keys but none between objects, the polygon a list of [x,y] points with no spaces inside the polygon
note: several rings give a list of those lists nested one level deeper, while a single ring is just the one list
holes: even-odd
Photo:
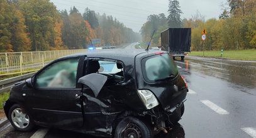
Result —
[{"label": "tall dark conifer rising directly above the truck's box trailer", "polygon": [[177,0],[170,0],[169,1],[169,16],[168,16],[168,24],[169,27],[172,28],[179,28],[182,26],[182,21],[181,21],[181,6],[179,6],[179,1]]}]

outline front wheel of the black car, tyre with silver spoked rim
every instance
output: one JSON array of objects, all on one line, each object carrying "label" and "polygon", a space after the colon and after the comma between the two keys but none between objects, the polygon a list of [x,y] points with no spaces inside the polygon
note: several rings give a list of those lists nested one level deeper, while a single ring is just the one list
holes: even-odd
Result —
[{"label": "front wheel of the black car, tyre with silver spoked rim", "polygon": [[11,122],[11,125],[13,125],[14,129],[22,132],[28,132],[34,127],[30,116],[18,104],[14,104],[10,108],[8,119]]}]

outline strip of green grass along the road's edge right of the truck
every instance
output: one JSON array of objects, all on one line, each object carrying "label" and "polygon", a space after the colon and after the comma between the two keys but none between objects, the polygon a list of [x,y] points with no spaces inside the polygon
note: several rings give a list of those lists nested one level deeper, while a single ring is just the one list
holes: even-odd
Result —
[{"label": "strip of green grass along the road's edge right of the truck", "polygon": [[[192,51],[191,56],[203,56],[203,51]],[[234,51],[204,51],[204,56],[216,58],[228,58],[232,60],[256,60],[256,50],[234,50]]]}]

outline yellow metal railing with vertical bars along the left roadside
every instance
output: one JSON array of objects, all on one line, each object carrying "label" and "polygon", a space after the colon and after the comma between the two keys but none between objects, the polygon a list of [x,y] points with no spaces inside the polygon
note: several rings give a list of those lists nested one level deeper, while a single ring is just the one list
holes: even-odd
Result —
[{"label": "yellow metal railing with vertical bars along the left roadside", "polygon": [[0,76],[17,73],[34,72],[52,60],[61,56],[88,51],[81,50],[53,50],[0,53]]}]

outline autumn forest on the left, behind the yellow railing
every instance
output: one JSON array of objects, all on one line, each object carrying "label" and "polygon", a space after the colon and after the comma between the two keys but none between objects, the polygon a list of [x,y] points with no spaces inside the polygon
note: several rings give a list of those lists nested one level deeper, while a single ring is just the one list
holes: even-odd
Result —
[{"label": "autumn forest on the left, behind the yellow railing", "polygon": [[0,52],[87,48],[92,39],[101,45],[140,41],[112,16],[86,8],[58,11],[50,0],[0,0]]}]

